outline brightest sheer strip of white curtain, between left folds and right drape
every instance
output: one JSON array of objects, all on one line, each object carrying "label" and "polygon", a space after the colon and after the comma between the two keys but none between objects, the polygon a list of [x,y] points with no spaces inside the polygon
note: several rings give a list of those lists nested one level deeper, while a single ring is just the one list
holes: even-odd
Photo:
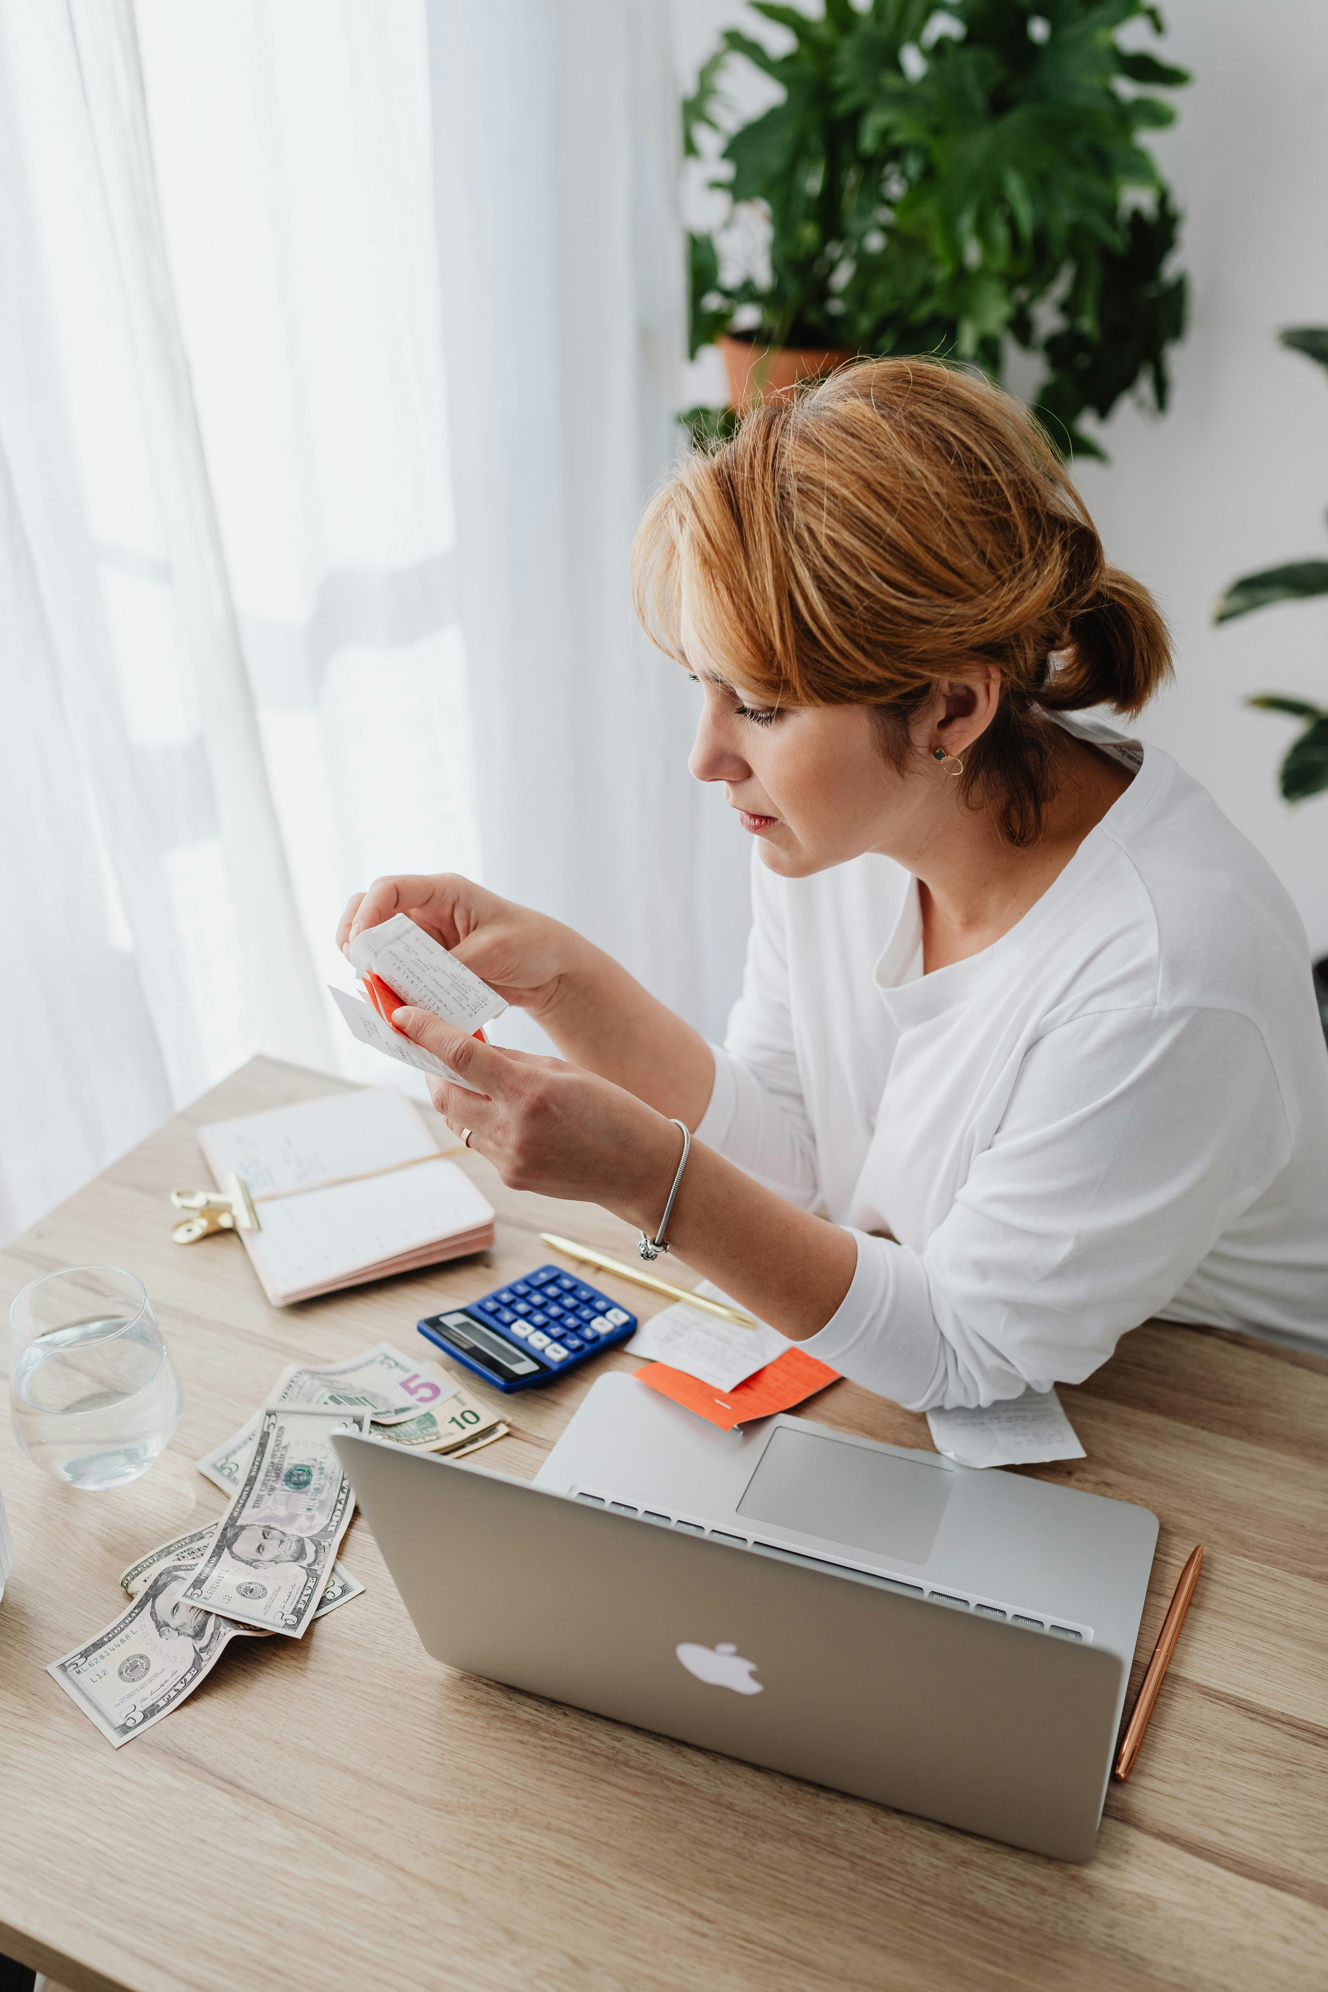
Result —
[{"label": "brightest sheer strip of white curtain, between left folds and right drape", "polygon": [[[344,978],[332,930],[354,886],[420,855],[480,869],[424,12],[135,12],[227,572],[323,986]],[[331,1044],[382,1080],[331,1032],[287,1056],[327,1066]]]}]

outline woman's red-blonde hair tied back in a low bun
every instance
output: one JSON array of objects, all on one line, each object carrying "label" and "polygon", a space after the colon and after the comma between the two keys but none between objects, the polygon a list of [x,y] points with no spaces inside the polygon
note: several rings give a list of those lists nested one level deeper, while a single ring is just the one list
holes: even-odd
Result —
[{"label": "woman's red-blonde hair tied back in a low bun", "polygon": [[631,552],[637,616],[679,663],[683,582],[725,675],[773,701],[870,705],[898,767],[936,685],[997,665],[962,789],[1015,845],[1053,793],[1045,713],[1137,713],[1171,675],[1153,596],[1107,566],[1033,416],[936,361],[842,367],[679,462]]}]

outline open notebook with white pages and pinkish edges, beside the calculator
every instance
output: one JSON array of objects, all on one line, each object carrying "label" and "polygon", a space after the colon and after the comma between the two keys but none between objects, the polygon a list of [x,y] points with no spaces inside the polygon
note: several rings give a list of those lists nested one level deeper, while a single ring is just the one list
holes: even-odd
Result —
[{"label": "open notebook with white pages and pinkish edges, beside the calculator", "polygon": [[213,1121],[199,1143],[217,1183],[249,1187],[259,1229],[239,1235],[275,1307],[494,1243],[494,1207],[388,1086]]}]

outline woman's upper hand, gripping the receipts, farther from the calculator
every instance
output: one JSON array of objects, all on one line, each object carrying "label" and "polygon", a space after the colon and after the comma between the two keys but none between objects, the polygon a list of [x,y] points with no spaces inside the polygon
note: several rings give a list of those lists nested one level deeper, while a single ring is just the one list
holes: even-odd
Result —
[{"label": "woman's upper hand, gripping the receipts, farther from the calculator", "polygon": [[563,978],[585,952],[585,942],[569,926],[486,892],[456,872],[374,878],[368,892],[350,894],[336,946],[344,950],[364,928],[396,912],[432,934],[504,1002],[532,1016],[555,1004]]}]

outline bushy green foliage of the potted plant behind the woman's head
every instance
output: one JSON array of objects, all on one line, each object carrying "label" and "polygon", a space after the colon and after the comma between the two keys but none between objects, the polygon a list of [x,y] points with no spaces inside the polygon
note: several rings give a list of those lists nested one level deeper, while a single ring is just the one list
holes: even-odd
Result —
[{"label": "bushy green foliage of the potted plant behind the woman's head", "polygon": [[[731,28],[683,106],[733,207],[693,233],[693,353],[725,331],[761,345],[934,353],[1001,376],[1009,341],[1041,357],[1035,406],[1091,456],[1085,410],[1137,382],[1167,406],[1185,277],[1179,217],[1141,133],[1185,70],[1119,46],[1163,20],[1143,0],[824,0],[753,12],[784,54]],[[731,127],[725,68],[755,64],[782,100]],[[713,133],[705,137],[707,129]],[[723,143],[721,143],[723,141]],[[735,219],[769,217],[769,271],[735,273]],[[737,231],[741,233],[741,231]]]}]

